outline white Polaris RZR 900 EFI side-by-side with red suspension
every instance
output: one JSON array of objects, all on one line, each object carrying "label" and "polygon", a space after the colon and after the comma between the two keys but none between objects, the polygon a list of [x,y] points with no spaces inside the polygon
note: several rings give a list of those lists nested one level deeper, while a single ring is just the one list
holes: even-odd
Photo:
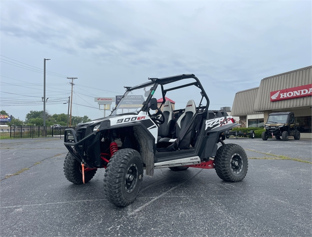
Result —
[{"label": "white Polaris RZR 900 EFI side-by-side with red suspension", "polygon": [[[149,78],[125,88],[110,116],[65,130],[69,153],[64,173],[69,181],[86,183],[97,169],[105,168],[105,195],[124,207],[137,197],[144,170],[152,177],[156,168],[215,168],[225,181],[245,178],[248,159],[244,149],[225,144],[221,134],[238,124],[232,116],[218,117],[208,110],[208,96],[195,75]],[[159,106],[158,95],[162,98]],[[187,101],[184,108],[174,110],[166,100],[175,96]]]}]

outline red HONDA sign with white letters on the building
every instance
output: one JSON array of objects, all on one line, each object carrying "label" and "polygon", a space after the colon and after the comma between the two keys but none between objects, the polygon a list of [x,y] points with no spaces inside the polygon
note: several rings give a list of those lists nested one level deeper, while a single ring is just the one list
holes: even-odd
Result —
[{"label": "red HONDA sign with white letters on the building", "polygon": [[271,101],[312,96],[312,84],[270,92]]}]

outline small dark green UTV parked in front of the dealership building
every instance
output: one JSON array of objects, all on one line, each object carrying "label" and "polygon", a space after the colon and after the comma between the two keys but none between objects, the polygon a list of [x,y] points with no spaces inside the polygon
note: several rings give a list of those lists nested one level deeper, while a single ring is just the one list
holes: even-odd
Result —
[{"label": "small dark green UTV parked in front of the dealership building", "polygon": [[266,129],[262,133],[262,140],[267,140],[269,135],[273,135],[277,140],[282,138],[287,141],[289,136],[293,136],[295,140],[300,139],[300,132],[297,130],[299,124],[294,122],[294,114],[292,112],[278,112],[269,114],[267,123],[264,125]]}]

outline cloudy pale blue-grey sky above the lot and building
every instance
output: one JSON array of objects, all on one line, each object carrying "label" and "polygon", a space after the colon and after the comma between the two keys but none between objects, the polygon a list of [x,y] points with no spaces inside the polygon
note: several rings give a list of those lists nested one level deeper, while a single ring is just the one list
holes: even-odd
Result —
[{"label": "cloudy pale blue-grey sky above the lot and building", "polygon": [[[21,120],[43,110],[44,59],[46,110],[67,114],[76,77],[72,115],[90,119],[103,117],[95,97],[148,78],[195,74],[218,110],[263,78],[312,65],[310,0],[1,0],[0,9],[0,110]],[[192,93],[170,99],[184,108]]]}]

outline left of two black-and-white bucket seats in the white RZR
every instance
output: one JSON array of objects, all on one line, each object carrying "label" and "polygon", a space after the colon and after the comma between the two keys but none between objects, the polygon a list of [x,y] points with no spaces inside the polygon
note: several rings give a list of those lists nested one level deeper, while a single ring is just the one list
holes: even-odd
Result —
[{"label": "left of two black-and-white bucket seats in the white RZR", "polygon": [[166,100],[163,108],[164,123],[159,125],[158,128],[158,140],[160,138],[167,138],[170,136],[170,131],[174,125],[174,111],[172,109],[171,102]]}]

